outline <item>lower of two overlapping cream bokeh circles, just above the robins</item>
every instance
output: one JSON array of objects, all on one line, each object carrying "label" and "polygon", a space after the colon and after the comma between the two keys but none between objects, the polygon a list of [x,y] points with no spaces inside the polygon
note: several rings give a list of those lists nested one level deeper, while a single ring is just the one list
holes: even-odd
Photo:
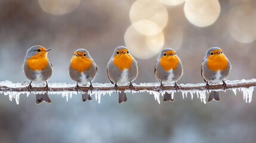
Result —
[{"label": "lower of two overlapping cream bokeh circles, just above the robins", "polygon": [[128,27],[124,39],[125,45],[129,48],[131,54],[141,59],[148,59],[158,55],[165,42],[162,31],[156,35],[141,35],[133,25]]}]

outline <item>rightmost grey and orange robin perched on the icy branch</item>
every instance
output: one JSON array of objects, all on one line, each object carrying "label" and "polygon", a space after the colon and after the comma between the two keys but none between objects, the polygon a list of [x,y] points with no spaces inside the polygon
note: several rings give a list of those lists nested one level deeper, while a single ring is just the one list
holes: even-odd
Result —
[{"label": "rightmost grey and orange robin perched on the icy branch", "polygon": [[[226,89],[227,79],[231,70],[229,59],[223,54],[222,49],[218,47],[209,48],[201,65],[201,76],[206,82],[205,88],[209,89],[209,83],[223,82],[223,87]],[[211,100],[220,101],[218,91],[209,93],[208,102]]]}]

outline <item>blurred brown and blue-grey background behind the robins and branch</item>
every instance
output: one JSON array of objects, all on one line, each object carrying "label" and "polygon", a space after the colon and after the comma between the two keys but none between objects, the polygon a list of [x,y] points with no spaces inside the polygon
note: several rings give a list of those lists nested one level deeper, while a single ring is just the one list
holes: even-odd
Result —
[{"label": "blurred brown and blue-grey background behind the robins and branch", "polygon": [[[33,45],[51,48],[49,82],[74,83],[69,61],[88,49],[98,66],[94,83],[109,83],[106,64],[125,45],[138,61],[135,83],[157,82],[153,66],[162,48],[177,51],[183,67],[180,83],[202,83],[201,63],[212,46],[232,63],[229,80],[256,73],[256,1],[253,0],[2,0],[0,1],[0,81],[24,82],[21,69]],[[255,95],[255,92],[254,92]],[[190,95],[158,104],[153,95],[116,94],[82,102],[50,95],[51,104],[20,104],[0,97],[0,142],[255,142],[256,99],[240,92],[220,93],[220,102],[203,104]],[[162,98],[162,97],[161,97]],[[207,97],[208,98],[208,95]],[[162,99],[161,99],[162,100]]]}]

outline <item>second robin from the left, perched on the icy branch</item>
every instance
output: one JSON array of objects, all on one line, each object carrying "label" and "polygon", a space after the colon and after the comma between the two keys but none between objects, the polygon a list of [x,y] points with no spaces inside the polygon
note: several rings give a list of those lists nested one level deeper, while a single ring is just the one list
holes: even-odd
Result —
[{"label": "second robin from the left, perched on the icy branch", "polygon": [[[76,91],[80,88],[78,83],[83,85],[94,80],[98,67],[86,49],[76,49],[70,61],[69,76],[76,82]],[[92,84],[89,86],[92,91]],[[82,94],[82,101],[92,100],[88,94]]]}]

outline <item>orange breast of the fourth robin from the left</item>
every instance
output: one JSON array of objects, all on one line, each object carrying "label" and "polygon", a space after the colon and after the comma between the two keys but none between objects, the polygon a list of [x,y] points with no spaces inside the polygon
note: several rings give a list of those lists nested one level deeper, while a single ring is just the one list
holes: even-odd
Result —
[{"label": "orange breast of the fourth robin from the left", "polygon": [[172,56],[166,56],[166,57],[162,57],[160,59],[160,65],[163,67],[164,70],[168,71],[168,70],[175,70],[178,67],[178,57],[177,55],[172,55]]}]

